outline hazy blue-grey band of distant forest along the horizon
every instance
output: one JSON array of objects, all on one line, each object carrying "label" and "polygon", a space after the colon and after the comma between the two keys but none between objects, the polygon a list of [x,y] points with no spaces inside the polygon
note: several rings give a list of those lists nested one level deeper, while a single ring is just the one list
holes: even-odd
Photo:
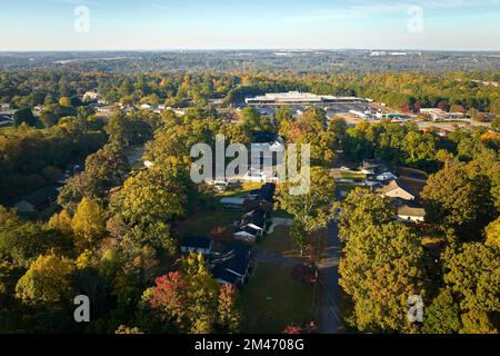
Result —
[{"label": "hazy blue-grey band of distant forest along the horizon", "polygon": [[[377,56],[376,56],[377,55]],[[382,55],[382,56],[380,56]],[[213,70],[317,73],[498,71],[498,52],[370,50],[214,50],[110,52],[3,52],[0,70],[121,73]],[[479,78],[478,78],[479,79]]]}]

